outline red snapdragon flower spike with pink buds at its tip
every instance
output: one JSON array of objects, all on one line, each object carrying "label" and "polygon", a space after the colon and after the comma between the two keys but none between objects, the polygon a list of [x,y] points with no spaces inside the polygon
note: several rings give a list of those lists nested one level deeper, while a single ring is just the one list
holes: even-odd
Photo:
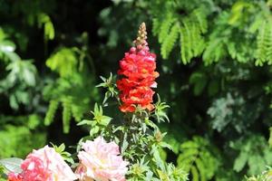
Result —
[{"label": "red snapdragon flower spike with pink buds at its tip", "polygon": [[156,54],[151,53],[146,42],[147,33],[145,24],[142,23],[137,39],[133,42],[130,52],[120,61],[118,74],[122,76],[118,80],[117,88],[120,90],[122,112],[133,112],[136,107],[142,110],[153,110],[152,98],[156,88],[155,79],[159,77],[156,69]]}]

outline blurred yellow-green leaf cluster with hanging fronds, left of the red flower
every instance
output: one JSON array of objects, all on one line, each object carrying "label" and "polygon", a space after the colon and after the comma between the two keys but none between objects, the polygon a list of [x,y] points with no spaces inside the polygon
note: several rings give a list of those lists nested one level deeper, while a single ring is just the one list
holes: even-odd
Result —
[{"label": "blurred yellow-green leaf cluster with hanging fronds, left of the red flower", "polygon": [[92,77],[88,76],[74,73],[69,79],[59,78],[55,82],[48,82],[44,88],[44,97],[50,100],[50,107],[44,119],[45,125],[53,121],[60,102],[63,107],[63,132],[69,132],[72,117],[76,121],[83,118],[83,114],[90,108],[92,95],[96,94],[96,90],[92,90]]}]

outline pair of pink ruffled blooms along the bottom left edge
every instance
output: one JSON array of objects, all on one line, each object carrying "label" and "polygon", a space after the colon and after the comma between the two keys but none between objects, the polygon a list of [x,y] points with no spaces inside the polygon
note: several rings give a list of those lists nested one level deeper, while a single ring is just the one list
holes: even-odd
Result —
[{"label": "pair of pink ruffled blooms along the bottom left edge", "polygon": [[103,138],[87,140],[78,154],[80,164],[75,170],[64,162],[53,148],[34,150],[23,161],[20,174],[10,173],[8,181],[125,181],[128,162],[120,156],[119,146]]}]

